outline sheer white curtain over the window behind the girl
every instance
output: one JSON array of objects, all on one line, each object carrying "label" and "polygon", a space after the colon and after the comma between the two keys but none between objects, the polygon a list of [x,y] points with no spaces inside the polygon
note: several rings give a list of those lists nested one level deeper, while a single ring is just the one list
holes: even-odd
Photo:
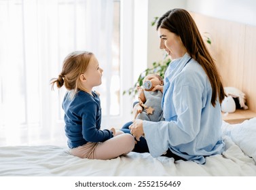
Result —
[{"label": "sheer white curtain over the window behind the girl", "polygon": [[66,141],[65,90],[52,92],[50,79],[75,50],[94,52],[104,69],[103,115],[124,115],[118,48],[113,0],[0,0],[0,145]]}]

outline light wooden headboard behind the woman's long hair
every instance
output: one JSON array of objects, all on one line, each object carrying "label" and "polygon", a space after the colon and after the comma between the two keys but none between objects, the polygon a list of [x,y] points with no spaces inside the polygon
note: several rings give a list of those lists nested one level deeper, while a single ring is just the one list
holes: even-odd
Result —
[{"label": "light wooden headboard behind the woman's long hair", "polygon": [[256,27],[190,12],[208,45],[223,85],[246,94],[249,110],[256,113]]}]

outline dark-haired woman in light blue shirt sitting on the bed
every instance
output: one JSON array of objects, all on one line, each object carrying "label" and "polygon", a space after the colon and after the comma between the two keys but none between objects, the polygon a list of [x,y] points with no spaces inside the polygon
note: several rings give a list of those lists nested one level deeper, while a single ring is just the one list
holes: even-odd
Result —
[{"label": "dark-haired woman in light blue shirt sitting on the bed", "polygon": [[[157,24],[160,49],[170,56],[164,75],[162,109],[165,121],[135,119],[130,133],[144,136],[153,157],[173,157],[205,163],[208,155],[221,154],[221,102],[225,97],[213,58],[186,10],[166,12]],[[139,105],[136,105],[138,108]]]}]

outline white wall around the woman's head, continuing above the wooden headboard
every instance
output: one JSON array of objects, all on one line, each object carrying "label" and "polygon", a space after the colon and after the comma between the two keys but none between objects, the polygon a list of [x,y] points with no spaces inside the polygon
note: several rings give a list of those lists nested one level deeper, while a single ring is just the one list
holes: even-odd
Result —
[{"label": "white wall around the woman's head, continuing above the wooden headboard", "polygon": [[[143,56],[147,67],[151,67],[155,61],[162,60],[164,55],[159,49],[156,26],[151,26],[151,21],[155,16],[162,16],[170,9],[184,8],[207,16],[256,26],[255,0],[147,0],[147,3],[147,56]],[[145,48],[144,45],[140,47]]]}]

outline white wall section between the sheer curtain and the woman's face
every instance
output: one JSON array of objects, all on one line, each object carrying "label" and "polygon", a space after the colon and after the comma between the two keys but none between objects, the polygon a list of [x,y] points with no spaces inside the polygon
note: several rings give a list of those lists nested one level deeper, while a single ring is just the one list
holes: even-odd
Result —
[{"label": "white wall section between the sheer curtain and the woman's face", "polygon": [[134,3],[134,51],[133,80],[139,74],[164,57],[159,49],[156,26],[151,26],[154,17],[162,16],[173,8],[185,8],[187,0],[132,0]]}]

